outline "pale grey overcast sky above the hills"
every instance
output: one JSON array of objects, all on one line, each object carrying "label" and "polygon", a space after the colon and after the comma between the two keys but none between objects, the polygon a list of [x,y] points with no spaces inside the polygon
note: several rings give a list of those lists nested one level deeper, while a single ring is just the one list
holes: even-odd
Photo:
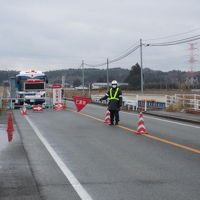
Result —
[{"label": "pale grey overcast sky above the hills", "polygon": [[[0,69],[78,68],[82,60],[116,58],[140,38],[165,42],[198,34],[199,0],[0,0]],[[188,48],[144,47],[144,67],[188,70]],[[130,69],[139,55],[138,49],[110,67]],[[200,70],[199,62],[194,68]]]}]

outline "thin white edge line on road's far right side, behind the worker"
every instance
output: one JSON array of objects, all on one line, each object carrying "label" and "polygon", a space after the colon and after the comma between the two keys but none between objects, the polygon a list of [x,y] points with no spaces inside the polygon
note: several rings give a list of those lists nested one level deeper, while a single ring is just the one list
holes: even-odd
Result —
[{"label": "thin white edge line on road's far right side, behind the worker", "polygon": [[[99,105],[94,105],[94,104],[90,104],[89,106],[93,106],[93,107],[98,107],[98,108],[101,108],[101,109],[105,109],[105,107],[101,107]],[[138,116],[138,114],[135,114],[135,113],[129,113],[129,112],[124,112],[124,111],[120,111],[120,112],[124,113],[124,114],[127,114],[127,115]],[[151,117],[151,116],[145,115],[145,118],[155,119],[155,120],[158,120],[158,121],[163,121],[163,122],[167,122],[167,123],[178,124],[178,125],[181,125],[181,126],[188,126],[188,127],[200,129],[200,126],[195,126],[195,125],[190,125],[190,124],[184,124],[184,123],[181,123],[181,122],[174,122],[174,121],[170,121],[170,120],[166,120],[166,119],[160,119],[160,118],[157,118],[157,117]]]}]

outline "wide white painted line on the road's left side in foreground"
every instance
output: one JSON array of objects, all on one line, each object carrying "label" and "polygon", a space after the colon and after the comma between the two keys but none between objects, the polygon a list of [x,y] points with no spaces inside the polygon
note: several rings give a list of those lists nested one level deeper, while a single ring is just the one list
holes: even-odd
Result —
[{"label": "wide white painted line on the road's left side in foreground", "polygon": [[30,118],[25,115],[26,120],[30,124],[30,126],[35,131],[36,135],[40,139],[40,141],[43,143],[43,145],[46,147],[47,151],[50,153],[54,161],[57,163],[58,167],[61,169],[65,177],[69,180],[71,185],[73,186],[74,190],[77,192],[79,197],[82,200],[92,200],[92,197],[88,194],[88,192],[83,188],[83,186],[80,184],[80,182],[77,180],[77,178],[74,176],[74,174],[70,171],[70,169],[66,166],[66,164],[61,160],[61,158],[58,156],[58,154],[55,152],[55,150],[51,147],[51,145],[47,142],[47,140],[42,136],[39,129],[34,125],[34,123],[30,120]]}]

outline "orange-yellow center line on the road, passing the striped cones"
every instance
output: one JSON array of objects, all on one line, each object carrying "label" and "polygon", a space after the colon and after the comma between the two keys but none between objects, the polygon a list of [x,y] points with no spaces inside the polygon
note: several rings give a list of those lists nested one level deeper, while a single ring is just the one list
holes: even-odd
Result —
[{"label": "orange-yellow center line on the road, passing the striped cones", "polygon": [[[80,113],[80,112],[77,112],[77,111],[71,110],[71,109],[66,109],[66,110],[70,111],[70,112],[74,112],[74,113],[79,114],[79,115],[83,115],[83,116],[91,118],[91,119],[95,119],[95,120],[100,121],[100,122],[104,122],[104,120],[99,119],[99,118],[94,117],[94,116],[91,116],[91,115],[88,115],[88,114]],[[124,130],[127,130],[127,131],[130,131],[130,132],[134,132],[134,133],[137,131],[137,130],[130,129],[130,128],[122,126],[122,125],[117,125],[116,127],[124,129]],[[150,134],[143,134],[142,136],[145,136],[145,137],[151,138],[153,140],[157,140],[157,141],[160,141],[160,142],[163,142],[163,143],[166,143],[166,144],[170,144],[170,145],[173,145],[173,146],[176,146],[176,147],[179,147],[179,148],[182,148],[182,149],[186,149],[186,150],[189,150],[189,151],[192,151],[192,152],[200,154],[200,150],[199,149],[194,149],[194,148],[191,148],[191,147],[188,147],[188,146],[185,146],[185,145],[182,145],[182,144],[178,144],[178,143],[175,143],[175,142],[172,142],[172,141],[169,141],[169,140],[165,140],[165,139],[162,139],[162,138],[150,135]]]}]

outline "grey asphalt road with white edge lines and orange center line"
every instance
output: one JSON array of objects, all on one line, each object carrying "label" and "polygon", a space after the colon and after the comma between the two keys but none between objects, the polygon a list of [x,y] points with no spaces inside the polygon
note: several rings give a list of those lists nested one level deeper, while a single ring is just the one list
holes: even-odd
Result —
[{"label": "grey asphalt road with white edge lines and orange center line", "polygon": [[199,199],[200,126],[144,116],[149,134],[137,135],[137,114],[120,112],[116,127],[105,107],[74,110],[14,111],[34,199]]}]

